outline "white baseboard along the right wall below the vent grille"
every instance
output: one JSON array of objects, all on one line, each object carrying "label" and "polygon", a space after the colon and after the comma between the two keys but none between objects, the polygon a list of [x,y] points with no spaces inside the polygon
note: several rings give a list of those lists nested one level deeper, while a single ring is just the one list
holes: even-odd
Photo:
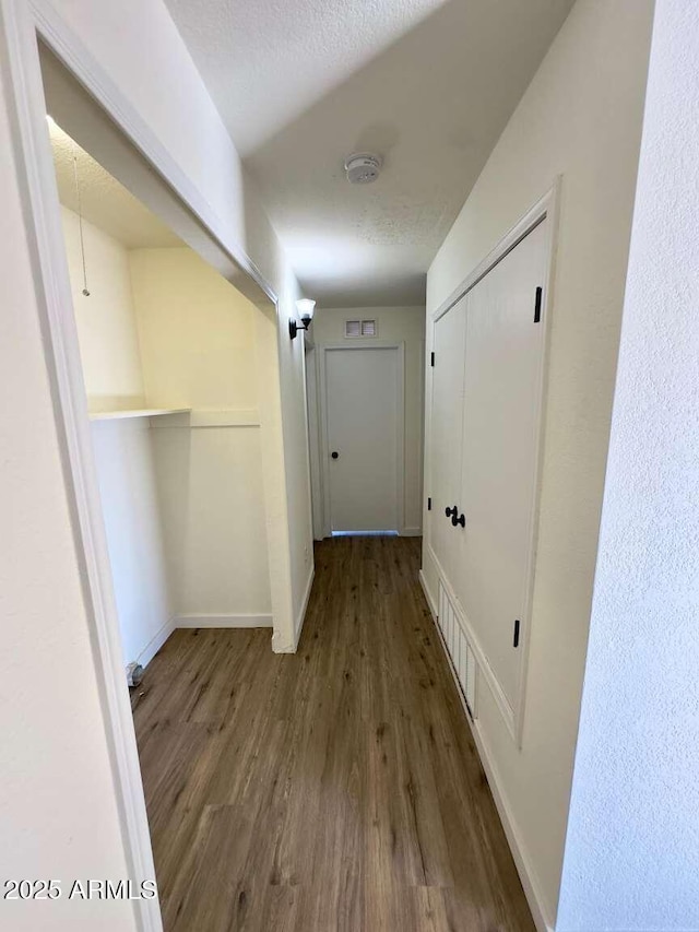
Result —
[{"label": "white baseboard along the right wall below the vent grille", "polygon": [[441,648],[445,651],[447,662],[449,663],[449,669],[451,670],[451,675],[454,680],[454,685],[459,694],[459,698],[461,700],[461,706],[463,708],[464,718],[469,724],[469,728],[471,729],[471,734],[473,735],[473,740],[478,751],[481,764],[483,765],[483,769],[485,770],[485,775],[488,780],[488,786],[490,787],[490,792],[493,793],[493,799],[495,801],[495,806],[498,811],[498,815],[500,816],[500,822],[502,824],[502,828],[505,829],[505,836],[510,847],[510,851],[512,852],[514,866],[517,868],[520,881],[522,882],[522,889],[524,890],[524,896],[526,897],[529,908],[532,911],[532,919],[534,920],[534,925],[536,925],[537,932],[554,932],[554,924],[553,922],[548,921],[546,916],[546,908],[544,907],[544,898],[541,893],[538,881],[529,862],[529,858],[524,853],[524,848],[521,843],[519,833],[514,825],[514,819],[512,818],[510,807],[507,804],[505,794],[500,789],[501,782],[497,768],[493,763],[493,759],[490,758],[490,755],[487,750],[487,745],[483,740],[481,727],[478,725],[478,719],[472,719],[471,715],[469,713],[466,699],[461,691],[461,686],[459,685],[459,677],[457,675],[457,671],[454,670],[451,657],[449,656],[449,650],[447,649],[447,642],[445,641],[443,635],[439,627],[439,623],[437,621],[436,603],[431,597],[429,587],[427,586],[427,579],[422,569],[419,571],[419,581],[420,586],[423,587],[423,592],[425,593],[427,604],[429,605],[429,610],[433,614],[435,628],[437,629],[437,637],[439,638]]}]

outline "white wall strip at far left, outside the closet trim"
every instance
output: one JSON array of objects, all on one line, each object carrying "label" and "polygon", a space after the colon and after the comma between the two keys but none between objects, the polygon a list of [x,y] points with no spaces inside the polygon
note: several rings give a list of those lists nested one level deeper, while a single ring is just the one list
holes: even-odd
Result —
[{"label": "white wall strip at far left, outside the closet trim", "polygon": [[[0,73],[0,875],[126,877],[88,609]],[[126,901],[0,900],[15,932],[135,930]]]}]

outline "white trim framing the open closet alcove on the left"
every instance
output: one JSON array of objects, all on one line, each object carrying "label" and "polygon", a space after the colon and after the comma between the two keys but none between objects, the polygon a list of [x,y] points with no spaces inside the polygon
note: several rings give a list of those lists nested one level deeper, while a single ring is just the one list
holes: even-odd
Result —
[{"label": "white trim framing the open closet alcove on the left", "polygon": [[[175,198],[198,219],[206,243],[224,259],[226,268],[235,276],[236,287],[258,307],[269,308],[270,315],[274,315],[276,334],[280,308],[276,293],[245,250],[238,244],[226,245],[225,225],[214,207],[194,188],[50,2],[0,0],[0,60],[4,66],[7,102],[14,122],[10,145],[25,210],[36,305],[93,646],[117,818],[130,876],[133,880],[155,878],[75,321],[72,310],[66,312],[67,307],[72,308],[72,296],[46,129],[46,102],[37,47],[39,39],[167,182]],[[197,223],[194,219],[191,222]],[[275,403],[281,412],[281,396]],[[280,539],[285,535],[283,530]],[[162,932],[158,897],[131,902],[135,924],[141,932]]]}]

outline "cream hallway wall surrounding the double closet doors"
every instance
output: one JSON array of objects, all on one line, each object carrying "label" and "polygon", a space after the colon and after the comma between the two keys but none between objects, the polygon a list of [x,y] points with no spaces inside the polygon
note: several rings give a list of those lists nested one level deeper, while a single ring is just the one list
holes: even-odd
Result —
[{"label": "cream hallway wall surrounding the double closet doors", "polygon": [[[483,679],[477,724],[529,895],[549,924],[580,710],[651,19],[651,0],[578,0],[428,274],[429,315],[562,175],[522,750]],[[428,545],[424,570],[436,594]]]}]

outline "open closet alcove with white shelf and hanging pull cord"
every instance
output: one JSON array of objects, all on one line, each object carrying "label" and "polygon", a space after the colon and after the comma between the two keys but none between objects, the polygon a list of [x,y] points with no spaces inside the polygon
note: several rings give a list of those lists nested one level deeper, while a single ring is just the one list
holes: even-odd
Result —
[{"label": "open closet alcove with white shelf and hanging pull cord", "polygon": [[123,663],[175,627],[271,628],[261,311],[49,131]]}]

